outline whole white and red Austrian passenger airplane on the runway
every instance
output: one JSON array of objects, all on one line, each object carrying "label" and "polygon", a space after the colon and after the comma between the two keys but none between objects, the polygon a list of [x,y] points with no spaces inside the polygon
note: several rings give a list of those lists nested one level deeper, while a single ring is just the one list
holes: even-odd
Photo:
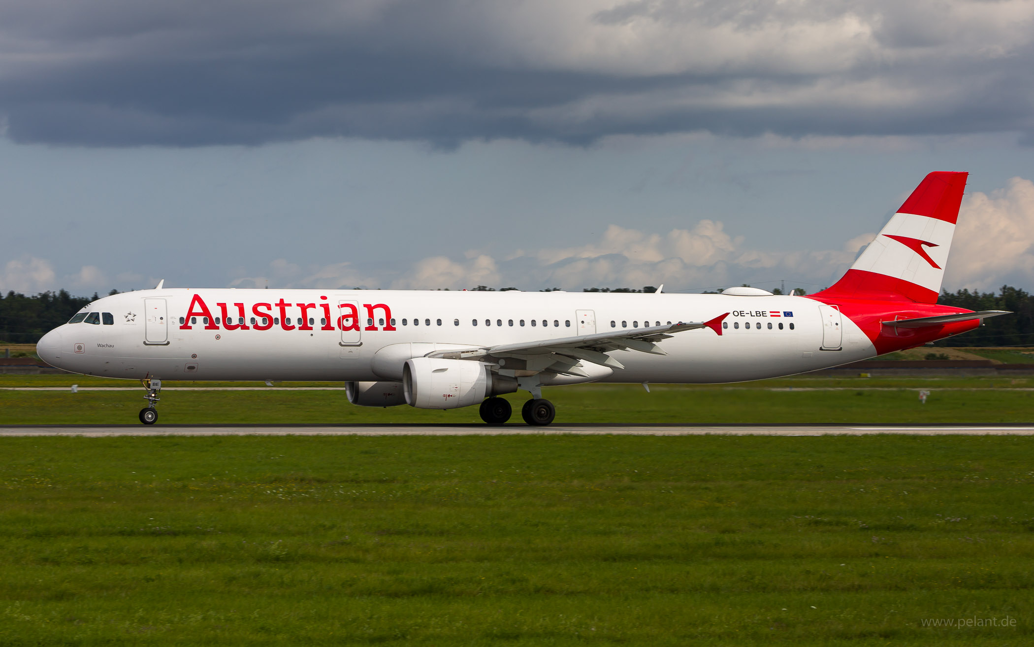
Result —
[{"label": "whole white and red Austrian passenger airplane on the runway", "polygon": [[340,381],[363,407],[480,406],[525,390],[521,417],[556,414],[543,386],[727,383],[868,359],[972,330],[1004,311],[938,305],[968,174],[929,174],[832,287],[776,295],[396,290],[141,290],[99,298],[36,350],[58,369],[141,380]]}]

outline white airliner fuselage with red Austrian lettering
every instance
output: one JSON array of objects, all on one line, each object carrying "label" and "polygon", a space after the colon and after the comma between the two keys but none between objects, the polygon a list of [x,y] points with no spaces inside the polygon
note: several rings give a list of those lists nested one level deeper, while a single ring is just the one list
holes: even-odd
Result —
[{"label": "white airliner fuselage with red Austrian lettering", "polygon": [[[211,315],[207,325],[199,302]],[[352,312],[347,303],[359,314],[358,325],[351,319],[342,325],[342,314]],[[877,354],[850,319],[833,311],[831,327],[824,322],[829,306],[820,306],[800,296],[723,294],[159,289],[97,299],[82,312],[110,316],[97,324],[62,325],[38,349],[55,366],[111,378],[376,381],[397,379],[394,364],[435,350],[708,321],[729,313],[721,335],[702,328],[659,342],[666,355],[611,352],[625,369],[601,381],[736,382]],[[268,329],[258,329],[263,317]],[[242,319],[244,327],[230,329]]]}]

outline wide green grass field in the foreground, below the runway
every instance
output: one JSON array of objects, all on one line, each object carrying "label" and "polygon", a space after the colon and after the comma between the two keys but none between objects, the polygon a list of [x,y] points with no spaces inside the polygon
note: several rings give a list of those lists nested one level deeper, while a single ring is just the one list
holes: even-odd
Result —
[{"label": "wide green grass field in the foreground, below the runway", "polygon": [[[0,644],[1029,644],[1021,437],[0,438]],[[1006,616],[1011,627],[922,626]]]}]

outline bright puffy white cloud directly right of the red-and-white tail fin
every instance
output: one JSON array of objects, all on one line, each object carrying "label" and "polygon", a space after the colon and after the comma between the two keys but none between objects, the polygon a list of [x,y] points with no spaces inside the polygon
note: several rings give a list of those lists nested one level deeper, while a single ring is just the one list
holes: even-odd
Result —
[{"label": "bright puffy white cloud directly right of the red-and-white tail fin", "polygon": [[945,287],[993,290],[1034,283],[1034,182],[1020,177],[963,201]]}]

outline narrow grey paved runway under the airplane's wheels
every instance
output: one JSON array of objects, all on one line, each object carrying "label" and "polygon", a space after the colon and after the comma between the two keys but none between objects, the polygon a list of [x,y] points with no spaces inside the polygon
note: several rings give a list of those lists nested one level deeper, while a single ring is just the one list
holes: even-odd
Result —
[{"label": "narrow grey paved runway under the airplane's wheels", "polygon": [[1034,425],[830,425],[830,424],[7,424],[2,436],[1032,436]]}]

